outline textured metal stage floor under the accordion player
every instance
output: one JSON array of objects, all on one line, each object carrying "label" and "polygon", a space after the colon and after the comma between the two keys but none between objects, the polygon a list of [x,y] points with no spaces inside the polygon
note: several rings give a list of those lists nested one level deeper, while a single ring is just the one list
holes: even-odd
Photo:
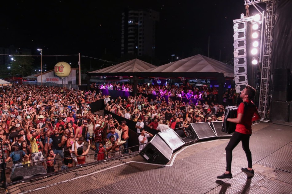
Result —
[{"label": "textured metal stage floor under the accordion player", "polygon": [[9,186],[10,193],[292,193],[292,127],[253,125],[250,148],[255,175],[247,178],[241,143],[233,150],[233,178],[225,172],[229,139],[185,146],[167,165],[147,163],[140,155],[90,165],[52,177]]}]

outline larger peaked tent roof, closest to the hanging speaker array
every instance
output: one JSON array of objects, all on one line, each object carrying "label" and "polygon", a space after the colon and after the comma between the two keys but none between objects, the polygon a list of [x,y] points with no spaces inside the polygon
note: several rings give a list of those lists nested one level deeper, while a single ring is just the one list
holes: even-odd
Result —
[{"label": "larger peaked tent roof, closest to the hanging speaker array", "polygon": [[234,77],[234,67],[203,55],[195,55],[145,70],[145,74],[171,77],[221,77],[223,74],[224,77]]}]

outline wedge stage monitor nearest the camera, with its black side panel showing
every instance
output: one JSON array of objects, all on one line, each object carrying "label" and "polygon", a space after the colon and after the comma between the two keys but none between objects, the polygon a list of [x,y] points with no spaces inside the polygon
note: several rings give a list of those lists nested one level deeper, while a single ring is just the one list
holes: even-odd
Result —
[{"label": "wedge stage monitor nearest the camera, with its black side panel showing", "polygon": [[170,161],[173,150],[158,135],[140,151],[140,155],[150,163],[167,164]]}]

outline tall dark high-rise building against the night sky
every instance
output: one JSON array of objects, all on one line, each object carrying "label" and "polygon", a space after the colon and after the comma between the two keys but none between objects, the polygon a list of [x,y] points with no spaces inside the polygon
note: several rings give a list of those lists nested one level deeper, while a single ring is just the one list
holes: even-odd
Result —
[{"label": "tall dark high-rise building against the night sky", "polygon": [[159,12],[130,10],[122,13],[121,55],[154,56]]}]

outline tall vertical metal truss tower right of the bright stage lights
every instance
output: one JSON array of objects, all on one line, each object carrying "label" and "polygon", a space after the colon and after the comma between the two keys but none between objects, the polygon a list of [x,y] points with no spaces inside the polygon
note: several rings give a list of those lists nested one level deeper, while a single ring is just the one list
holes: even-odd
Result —
[{"label": "tall vertical metal truss tower right of the bright stage lights", "polygon": [[264,43],[262,55],[261,84],[259,94],[258,112],[261,120],[269,120],[268,110],[270,108],[270,74],[271,74],[271,57],[273,49],[273,31],[275,22],[276,0],[266,2]]}]

